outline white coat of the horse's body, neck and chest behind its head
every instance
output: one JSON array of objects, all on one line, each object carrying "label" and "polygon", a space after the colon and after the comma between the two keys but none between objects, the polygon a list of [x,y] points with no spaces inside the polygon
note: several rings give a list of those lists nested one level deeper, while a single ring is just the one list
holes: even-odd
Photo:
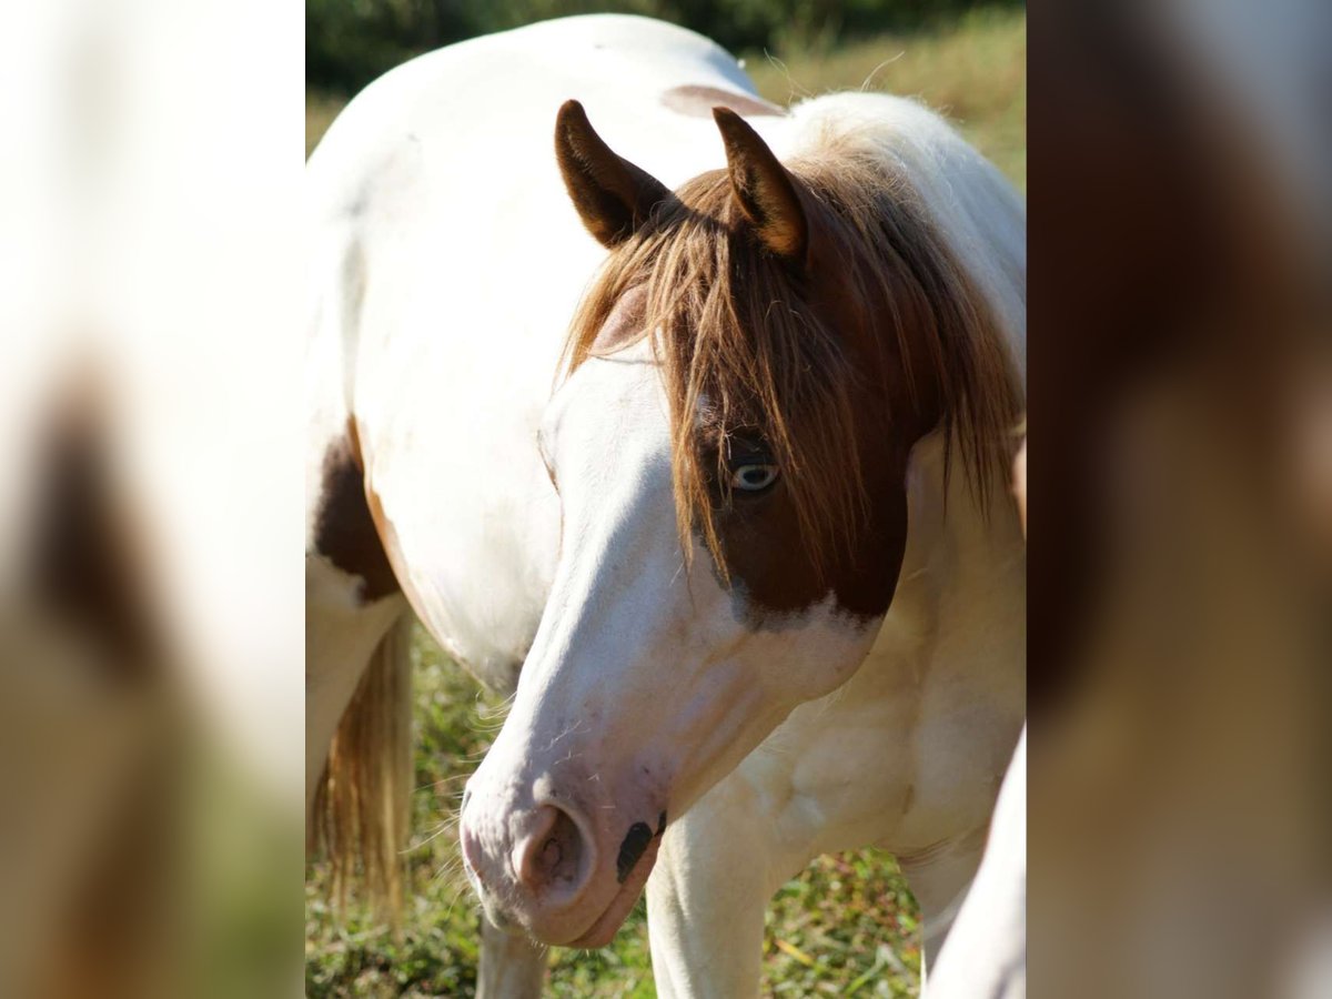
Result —
[{"label": "white coat of the horse's body, neck and chest behind its head", "polygon": [[[551,124],[562,101],[581,100],[621,155],[675,186],[723,164],[706,113],[663,105],[682,87],[753,96],[734,59],[691,32],[609,15],[546,23],[389,73],[310,161],[312,510],[324,456],[350,422],[412,607],[498,689],[517,681],[559,557],[561,500],[535,434],[570,316],[606,253],[569,204]],[[936,117],[844,95],[751,124],[785,160],[847,121],[876,129],[903,163],[1020,358],[1022,209]],[[930,952],[942,942],[931,930],[946,928],[975,870],[1024,711],[1016,519],[999,497],[986,522],[960,474],[944,515],[942,454],[938,434],[912,454],[907,551],[864,663],[673,817],[649,883],[663,995],[754,994],[767,899],[831,850],[895,851]],[[318,559],[309,571],[354,590]],[[356,613],[376,618],[372,630],[393,617]],[[357,657],[364,666],[357,651],[340,669]],[[345,697],[314,709],[314,730],[332,733]]]}]

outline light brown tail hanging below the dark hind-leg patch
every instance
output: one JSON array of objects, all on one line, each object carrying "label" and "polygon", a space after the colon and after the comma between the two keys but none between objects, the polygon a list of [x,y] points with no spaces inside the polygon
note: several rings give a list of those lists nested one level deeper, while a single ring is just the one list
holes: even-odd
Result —
[{"label": "light brown tail hanging below the dark hind-leg patch", "polygon": [[333,899],[350,891],[396,922],[412,797],[412,615],[388,630],[348,703],[310,811]]}]

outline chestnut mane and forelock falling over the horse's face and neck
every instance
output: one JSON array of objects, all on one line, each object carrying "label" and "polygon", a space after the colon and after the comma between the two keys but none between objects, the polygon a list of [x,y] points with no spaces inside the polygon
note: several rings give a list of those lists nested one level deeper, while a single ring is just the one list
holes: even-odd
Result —
[{"label": "chestnut mane and forelock falling over the horse's face and neck", "polygon": [[[615,304],[646,288],[638,338],[655,332],[670,400],[681,539],[687,557],[701,530],[723,574],[707,489],[719,469],[701,460],[721,462],[738,428],[766,437],[815,566],[836,546],[854,550],[866,514],[866,400],[890,428],[914,413],[927,421],[920,433],[942,425],[982,507],[1006,474],[1020,405],[998,322],[883,159],[839,140],[787,164],[819,233],[810,273],[753,238],[725,170],[695,177],[611,252],[573,320],[570,374],[597,353]],[[818,285],[831,274],[850,293],[830,302]]]}]

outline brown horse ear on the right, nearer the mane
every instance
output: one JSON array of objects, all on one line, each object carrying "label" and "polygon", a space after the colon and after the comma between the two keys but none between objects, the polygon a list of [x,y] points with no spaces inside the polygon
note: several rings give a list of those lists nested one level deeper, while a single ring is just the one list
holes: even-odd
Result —
[{"label": "brown horse ear on the right, nearer the mane", "polygon": [[758,132],[730,108],[713,108],[726,144],[731,189],[758,237],[777,256],[803,265],[810,226],[795,180]]}]

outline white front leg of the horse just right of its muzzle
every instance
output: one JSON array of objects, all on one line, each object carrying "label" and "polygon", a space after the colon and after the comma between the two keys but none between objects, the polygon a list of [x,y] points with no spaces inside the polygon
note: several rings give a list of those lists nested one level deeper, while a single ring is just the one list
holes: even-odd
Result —
[{"label": "white front leg of the horse just right of its muzzle", "polygon": [[662,999],[759,995],[763,912],[813,855],[779,843],[766,819],[759,795],[737,771],[667,826],[647,880],[653,978]]}]

